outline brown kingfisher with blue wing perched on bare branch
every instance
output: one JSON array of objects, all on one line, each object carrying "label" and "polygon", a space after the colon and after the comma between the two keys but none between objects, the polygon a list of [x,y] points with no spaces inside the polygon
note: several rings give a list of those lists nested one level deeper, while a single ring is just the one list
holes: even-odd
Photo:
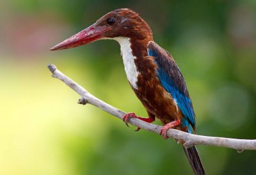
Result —
[{"label": "brown kingfisher with blue wing perched on bare branch", "polygon": [[[106,39],[120,44],[129,84],[148,113],[148,118],[127,113],[125,123],[131,118],[152,123],[157,118],[164,125],[160,132],[164,139],[168,138],[166,133],[170,128],[188,133],[192,132],[191,128],[195,131],[195,112],[184,77],[171,54],[154,42],[147,22],[135,11],[128,8],[110,11],[51,50],[70,49]],[[183,149],[193,172],[205,174],[196,147]]]}]

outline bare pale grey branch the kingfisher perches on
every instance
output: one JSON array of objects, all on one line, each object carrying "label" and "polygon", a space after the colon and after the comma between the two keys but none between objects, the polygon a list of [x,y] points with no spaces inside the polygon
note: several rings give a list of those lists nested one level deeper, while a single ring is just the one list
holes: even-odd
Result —
[{"label": "bare pale grey branch the kingfisher perches on", "polygon": [[[108,112],[109,114],[115,116],[116,118],[123,119],[125,112],[120,109],[116,109],[115,107],[109,105],[108,103],[103,102],[99,98],[96,98],[92,94],[88,93],[82,86],[74,82],[72,79],[68,78],[66,75],[60,72],[56,68],[56,66],[49,64],[47,66],[52,73],[52,77],[60,79],[65,82],[67,86],[76,91],[81,98],[79,99],[80,104],[85,105],[86,103],[90,103],[95,107],[99,107],[100,109]],[[141,121],[140,119],[131,118],[129,123],[131,125],[140,127],[144,130],[148,130],[154,133],[160,133],[162,126],[155,125],[152,123],[147,123],[145,121]],[[256,139],[254,140],[246,140],[246,139],[230,139],[225,137],[209,137],[204,135],[195,135],[193,133],[186,133],[180,130],[170,129],[167,133],[168,137],[176,139],[178,141],[184,141],[185,147],[189,148],[193,145],[208,145],[208,146],[218,146],[225,148],[237,149],[238,153],[242,153],[244,149],[248,150],[256,150]]]}]

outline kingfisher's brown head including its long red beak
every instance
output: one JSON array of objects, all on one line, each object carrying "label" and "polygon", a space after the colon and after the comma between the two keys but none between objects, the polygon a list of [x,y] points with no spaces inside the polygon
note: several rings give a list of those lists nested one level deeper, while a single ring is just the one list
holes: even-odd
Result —
[{"label": "kingfisher's brown head including its long red beak", "polygon": [[150,41],[152,40],[152,31],[138,13],[122,8],[107,13],[92,26],[74,34],[74,36],[52,47],[51,50],[69,49],[101,39],[115,40],[118,37]]}]

